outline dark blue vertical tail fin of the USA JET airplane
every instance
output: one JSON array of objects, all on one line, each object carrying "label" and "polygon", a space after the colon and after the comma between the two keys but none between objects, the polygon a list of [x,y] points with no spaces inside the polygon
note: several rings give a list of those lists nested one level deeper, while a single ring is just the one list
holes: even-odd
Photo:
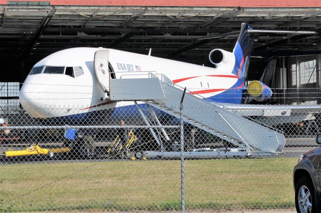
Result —
[{"label": "dark blue vertical tail fin of the USA JET airplane", "polygon": [[253,45],[253,41],[250,39],[250,35],[247,30],[252,30],[252,26],[246,23],[242,23],[240,35],[236,41],[233,49],[235,56],[235,66],[232,71],[237,75],[240,80],[245,81],[247,76],[247,70],[250,61],[250,52]]}]

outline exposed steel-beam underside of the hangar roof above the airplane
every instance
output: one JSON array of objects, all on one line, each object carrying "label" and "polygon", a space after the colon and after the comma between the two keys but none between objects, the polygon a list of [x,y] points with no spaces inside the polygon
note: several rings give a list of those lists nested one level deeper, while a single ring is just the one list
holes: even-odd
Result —
[{"label": "exposed steel-beam underside of the hangar roof above the airplane", "polygon": [[[9,2],[8,2],[9,3]],[[108,47],[208,64],[232,50],[242,22],[254,29],[321,32],[321,8],[0,5],[0,61],[38,61],[72,47]],[[26,2],[28,4],[28,2]],[[214,38],[200,40],[205,37]],[[319,35],[260,35],[254,53],[316,51]],[[313,52],[311,52],[313,53]]]}]

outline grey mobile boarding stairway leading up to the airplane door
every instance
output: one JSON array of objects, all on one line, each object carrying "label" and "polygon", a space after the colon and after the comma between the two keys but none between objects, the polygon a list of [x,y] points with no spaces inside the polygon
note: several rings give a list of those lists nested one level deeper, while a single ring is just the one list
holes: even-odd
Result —
[{"label": "grey mobile boarding stairway leading up to the airplane door", "polygon": [[[96,57],[96,56],[95,56]],[[96,61],[95,61],[96,63]],[[95,65],[96,67],[96,65]],[[97,72],[100,72],[97,70]],[[97,75],[96,72],[96,75]],[[120,75],[118,73],[118,75]],[[108,75],[107,75],[108,76]],[[141,72],[138,75],[122,73],[119,78],[111,78],[108,82],[97,75],[103,89],[106,91],[105,100],[134,101],[146,124],[160,125],[156,115],[149,106],[153,106],[172,116],[180,117],[180,102],[183,89],[177,88],[165,75],[153,72]],[[105,81],[105,82],[102,82]],[[136,101],[147,104],[151,113],[146,116]],[[185,94],[183,101],[184,122],[202,129],[218,138],[221,138],[235,148],[200,148],[184,152],[186,157],[218,157],[218,156],[250,156],[281,153],[285,138],[281,131],[273,129],[249,118],[242,117],[239,113],[226,110],[219,104],[209,103],[201,96]],[[150,128],[159,150],[150,150],[141,153],[145,157],[178,157],[180,151],[167,151],[163,141],[169,140],[164,129]]]}]

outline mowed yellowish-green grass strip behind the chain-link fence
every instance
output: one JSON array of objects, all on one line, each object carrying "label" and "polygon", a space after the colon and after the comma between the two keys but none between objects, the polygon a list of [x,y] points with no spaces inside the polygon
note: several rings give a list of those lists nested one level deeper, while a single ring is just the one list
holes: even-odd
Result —
[{"label": "mowed yellowish-green grass strip behind the chain-link fence", "polygon": [[[187,208],[293,207],[296,161],[187,160]],[[178,160],[0,165],[0,212],[180,210],[180,190]]]}]

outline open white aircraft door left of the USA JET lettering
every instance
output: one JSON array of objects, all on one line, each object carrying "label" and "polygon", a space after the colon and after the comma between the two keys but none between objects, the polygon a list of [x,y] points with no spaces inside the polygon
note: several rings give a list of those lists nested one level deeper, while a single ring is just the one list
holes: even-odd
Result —
[{"label": "open white aircraft door left of the USA JET lettering", "polygon": [[104,90],[109,93],[109,68],[108,68],[109,50],[98,50],[95,52],[94,67],[97,80]]}]

